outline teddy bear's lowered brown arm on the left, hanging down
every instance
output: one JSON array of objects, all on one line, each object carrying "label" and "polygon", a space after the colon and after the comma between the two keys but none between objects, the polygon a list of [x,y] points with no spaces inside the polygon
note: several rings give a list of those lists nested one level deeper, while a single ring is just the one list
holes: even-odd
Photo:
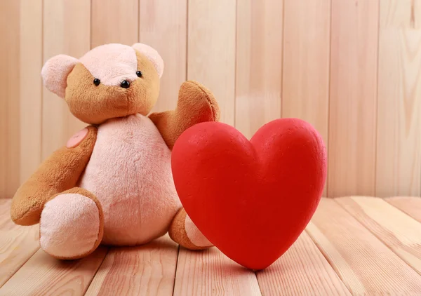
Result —
[{"label": "teddy bear's lowered brown arm on the left, hanging down", "polygon": [[[77,135],[77,134],[76,134]],[[75,135],[75,136],[76,136]],[[62,147],[48,157],[23,183],[12,199],[11,217],[15,224],[39,223],[44,204],[55,194],[76,186],[95,145],[97,128],[88,126],[76,146]]]}]

